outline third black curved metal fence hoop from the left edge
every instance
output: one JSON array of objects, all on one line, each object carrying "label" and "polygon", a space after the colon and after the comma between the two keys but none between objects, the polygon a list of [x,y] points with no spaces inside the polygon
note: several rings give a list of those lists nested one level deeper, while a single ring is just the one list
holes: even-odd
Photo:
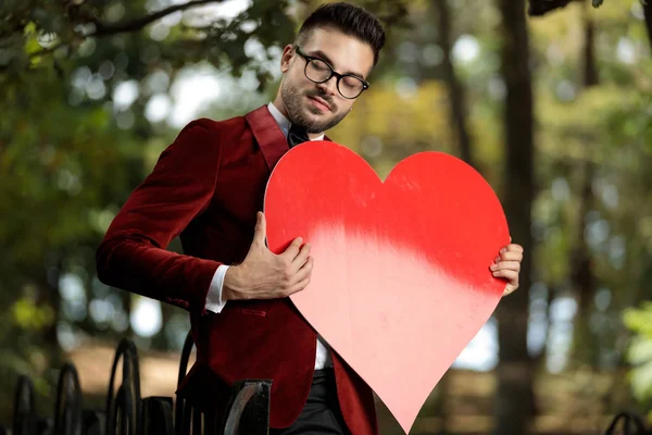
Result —
[{"label": "third black curved metal fence hoop from the left edge", "polygon": [[[122,383],[114,402],[113,388],[115,385],[117,362],[120,361],[121,357],[123,359]],[[124,398],[123,401],[128,400],[129,409],[131,409],[131,413],[127,415],[129,418],[131,430],[124,435],[135,435],[142,424],[142,419],[140,418],[140,373],[138,365],[138,351],[136,350],[136,346],[131,340],[123,338],[115,351],[115,358],[113,359],[113,366],[111,369],[111,380],[109,381],[109,394],[106,395],[106,426],[104,431],[105,435],[115,434],[115,423],[118,420],[118,413],[116,409],[117,396],[120,396],[121,390],[123,391],[123,395],[129,395],[129,397]]]}]

